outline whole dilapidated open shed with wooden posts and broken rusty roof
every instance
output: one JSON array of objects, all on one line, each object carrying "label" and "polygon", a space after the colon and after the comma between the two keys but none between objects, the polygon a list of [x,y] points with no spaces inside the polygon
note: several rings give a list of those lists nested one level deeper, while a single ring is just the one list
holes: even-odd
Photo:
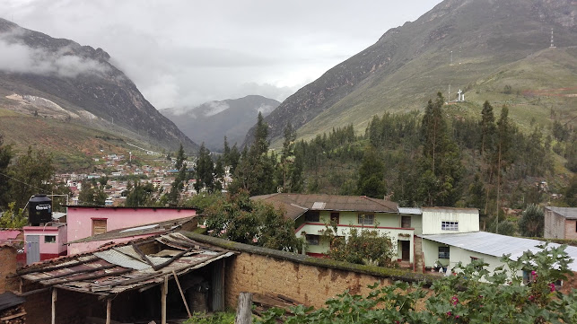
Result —
[{"label": "whole dilapidated open shed with wooden posts and broken rusty roof", "polygon": [[166,323],[222,311],[223,258],[233,254],[169,233],[23,267],[27,323]]}]

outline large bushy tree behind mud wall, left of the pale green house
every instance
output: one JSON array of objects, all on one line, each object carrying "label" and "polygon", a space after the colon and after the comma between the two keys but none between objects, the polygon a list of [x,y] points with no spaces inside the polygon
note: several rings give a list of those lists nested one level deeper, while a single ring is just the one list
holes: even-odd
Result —
[{"label": "large bushy tree behind mud wall, left of the pale green house", "polygon": [[252,200],[246,191],[205,208],[206,229],[212,236],[275,250],[296,251],[302,241],[294,236],[294,221],[282,210]]}]

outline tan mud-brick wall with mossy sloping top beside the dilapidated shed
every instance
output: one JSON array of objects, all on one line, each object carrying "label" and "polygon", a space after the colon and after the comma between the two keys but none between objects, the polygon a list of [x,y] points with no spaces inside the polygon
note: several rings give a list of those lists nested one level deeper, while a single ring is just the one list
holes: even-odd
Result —
[{"label": "tan mud-brick wall with mossy sloping top beside the dilapidated shed", "polygon": [[298,302],[319,307],[346,289],[368,293],[367,285],[379,282],[390,285],[396,280],[432,282],[429,275],[407,270],[386,269],[338,262],[326,258],[270,250],[217,239],[192,232],[182,232],[190,239],[237,251],[226,259],[224,290],[226,305],[236,308],[241,292],[283,294]]}]

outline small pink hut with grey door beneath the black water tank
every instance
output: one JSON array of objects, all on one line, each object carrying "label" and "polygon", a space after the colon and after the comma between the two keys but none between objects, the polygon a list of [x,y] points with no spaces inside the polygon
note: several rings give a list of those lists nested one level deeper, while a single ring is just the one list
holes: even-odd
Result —
[{"label": "small pink hut with grey door beneath the black water tank", "polygon": [[66,223],[47,223],[44,226],[24,226],[26,264],[66,256]]}]

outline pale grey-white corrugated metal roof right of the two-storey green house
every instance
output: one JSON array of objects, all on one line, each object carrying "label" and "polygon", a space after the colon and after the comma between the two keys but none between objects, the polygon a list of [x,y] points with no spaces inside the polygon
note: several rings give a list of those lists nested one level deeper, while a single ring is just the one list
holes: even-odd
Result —
[{"label": "pale grey-white corrugated metal roof right of the two-storey green house", "polygon": [[[417,235],[425,240],[436,241],[442,244],[470,250],[477,253],[486,254],[501,258],[505,254],[511,254],[511,259],[519,258],[525,251],[537,252],[537,246],[544,244],[544,241],[523,239],[492,232],[464,232],[456,234],[436,234]],[[552,247],[559,247],[559,244],[549,243]],[[565,252],[573,258],[569,267],[577,271],[577,247],[568,246]]]}]

